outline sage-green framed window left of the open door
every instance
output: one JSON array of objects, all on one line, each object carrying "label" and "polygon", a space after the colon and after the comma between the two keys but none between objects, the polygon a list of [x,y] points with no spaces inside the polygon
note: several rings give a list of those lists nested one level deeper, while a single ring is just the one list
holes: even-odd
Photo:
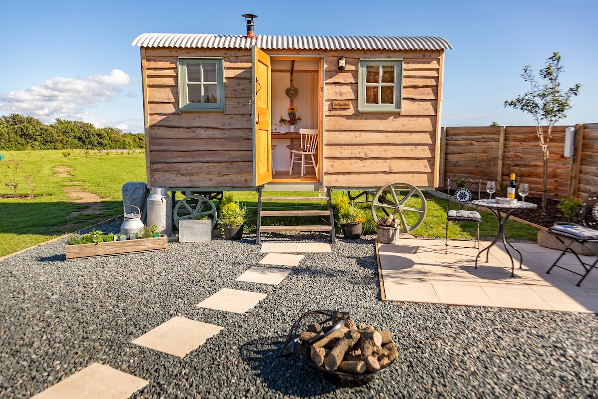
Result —
[{"label": "sage-green framed window left of the open door", "polygon": [[179,58],[179,109],[224,111],[222,59]]}]

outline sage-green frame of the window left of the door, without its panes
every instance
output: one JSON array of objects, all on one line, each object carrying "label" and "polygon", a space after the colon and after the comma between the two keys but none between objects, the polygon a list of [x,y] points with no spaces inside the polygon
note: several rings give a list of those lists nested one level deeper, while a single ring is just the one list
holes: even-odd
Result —
[{"label": "sage-green frame of the window left of the door, without its panes", "polygon": [[[213,84],[203,82],[188,82],[187,65],[212,63],[216,64],[216,102],[189,102],[189,84]],[[179,57],[179,111],[224,111],[224,60],[218,57]]]}]

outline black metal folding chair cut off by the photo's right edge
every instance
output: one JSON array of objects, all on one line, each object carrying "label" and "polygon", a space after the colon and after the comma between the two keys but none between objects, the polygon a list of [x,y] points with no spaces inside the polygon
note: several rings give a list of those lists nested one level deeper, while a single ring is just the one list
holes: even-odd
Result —
[{"label": "black metal folding chair cut off by the photo's right edge", "polygon": [[[557,260],[554,261],[553,266],[550,266],[550,269],[546,272],[550,273],[550,271],[553,270],[553,267],[559,267],[559,269],[567,270],[574,275],[581,276],[581,279],[579,279],[576,284],[577,287],[579,287],[579,284],[584,281],[591,270],[596,267],[596,263],[598,263],[598,193],[593,192],[591,189],[588,192],[587,199],[581,207],[580,219],[581,226],[579,224],[557,223],[548,229],[548,233],[559,240],[559,242],[565,246],[565,249],[563,249],[563,252],[561,252]],[[593,256],[596,257],[596,259],[593,263],[589,263],[589,261],[588,263],[585,263],[579,257],[579,254],[575,251],[575,243],[581,246],[581,248],[587,249],[585,252],[594,254]],[[579,248],[580,247],[578,247],[578,251]],[[571,266],[557,264],[567,252],[575,255],[575,258],[577,258],[579,264],[581,264],[581,272],[572,270]]]}]

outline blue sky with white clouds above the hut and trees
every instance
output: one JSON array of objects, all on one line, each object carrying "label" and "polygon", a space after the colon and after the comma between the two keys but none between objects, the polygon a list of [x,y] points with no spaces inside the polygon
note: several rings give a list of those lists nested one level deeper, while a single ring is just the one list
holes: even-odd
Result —
[{"label": "blue sky with white clouds above the hut and trees", "polygon": [[563,87],[581,83],[559,124],[598,122],[594,0],[247,2],[14,1],[2,5],[0,115],[83,120],[143,131],[141,33],[441,36],[447,50],[443,126],[533,124],[503,102],[527,91],[521,69],[559,51]]}]

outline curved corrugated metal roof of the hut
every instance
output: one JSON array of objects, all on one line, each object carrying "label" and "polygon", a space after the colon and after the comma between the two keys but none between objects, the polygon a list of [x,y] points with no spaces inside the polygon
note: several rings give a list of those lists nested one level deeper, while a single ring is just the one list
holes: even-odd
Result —
[{"label": "curved corrugated metal roof of the hut", "polygon": [[453,46],[435,36],[245,36],[192,33],[143,33],[131,45],[176,48],[251,48],[264,50],[447,50]]}]

